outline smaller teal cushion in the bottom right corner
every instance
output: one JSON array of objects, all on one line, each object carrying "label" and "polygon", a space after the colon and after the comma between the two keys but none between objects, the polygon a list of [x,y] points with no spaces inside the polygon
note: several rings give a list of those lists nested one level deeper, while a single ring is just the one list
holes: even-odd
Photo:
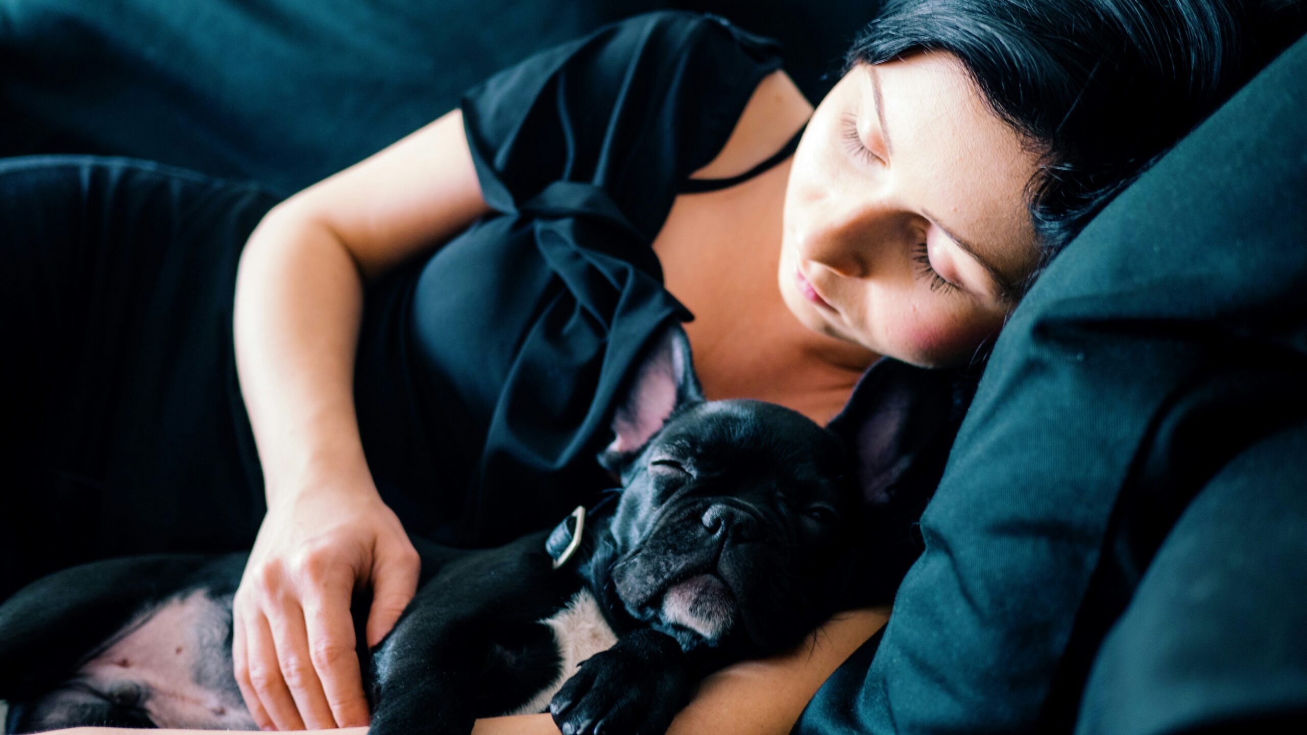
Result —
[{"label": "smaller teal cushion in the bottom right corner", "polygon": [[1304,477],[1299,423],[1189,503],[1094,659],[1078,735],[1307,730]]}]

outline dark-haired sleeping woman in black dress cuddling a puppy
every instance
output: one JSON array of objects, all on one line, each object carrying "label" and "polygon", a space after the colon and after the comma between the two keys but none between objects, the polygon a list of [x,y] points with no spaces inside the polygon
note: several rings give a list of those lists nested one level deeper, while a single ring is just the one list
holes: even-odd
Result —
[{"label": "dark-haired sleeping woman in black dress cuddling a puppy", "polygon": [[[142,162],[0,162],[0,599],[91,559],[252,546],[233,650],[255,721],[366,725],[352,594],[372,593],[374,644],[416,590],[406,533],[493,544],[592,499],[660,328],[693,315],[710,399],[851,437],[902,420],[860,379],[982,363],[1293,5],[890,0],[816,110],[774,42],[639,16],[284,201]],[[788,732],[884,619],[718,674],[674,728]]]}]

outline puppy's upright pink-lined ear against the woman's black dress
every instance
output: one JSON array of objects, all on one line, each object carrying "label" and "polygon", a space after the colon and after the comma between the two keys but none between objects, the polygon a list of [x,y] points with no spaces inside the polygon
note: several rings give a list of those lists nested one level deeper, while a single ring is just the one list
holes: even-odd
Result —
[{"label": "puppy's upright pink-lined ear against the woman's black dress", "polygon": [[635,369],[626,399],[613,413],[613,443],[600,453],[599,462],[620,473],[673,411],[701,401],[703,389],[694,375],[690,339],[673,322],[651,342]]}]

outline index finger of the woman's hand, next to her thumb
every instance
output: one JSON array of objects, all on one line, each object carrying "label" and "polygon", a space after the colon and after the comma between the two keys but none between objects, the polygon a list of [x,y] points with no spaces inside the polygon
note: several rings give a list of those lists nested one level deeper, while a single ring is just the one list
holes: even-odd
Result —
[{"label": "index finger of the woman's hand, next to her thumb", "polygon": [[354,620],[349,614],[352,593],[352,580],[344,578],[305,601],[308,655],[339,727],[367,725],[367,697],[354,651]]}]

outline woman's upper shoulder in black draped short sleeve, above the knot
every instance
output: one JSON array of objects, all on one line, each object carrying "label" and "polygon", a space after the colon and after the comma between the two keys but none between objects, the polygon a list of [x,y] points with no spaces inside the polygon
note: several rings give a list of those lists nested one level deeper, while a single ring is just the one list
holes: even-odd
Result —
[{"label": "woman's upper shoulder in black draped short sleeve, above the knot", "polygon": [[656,232],[670,200],[651,201],[651,189],[674,197],[737,128],[710,171],[748,170],[744,162],[766,159],[806,117],[776,114],[786,99],[801,101],[776,74],[782,64],[775,40],[677,10],[633,16],[545,50],[460,101],[484,196],[508,211],[554,181],[589,183]]}]

